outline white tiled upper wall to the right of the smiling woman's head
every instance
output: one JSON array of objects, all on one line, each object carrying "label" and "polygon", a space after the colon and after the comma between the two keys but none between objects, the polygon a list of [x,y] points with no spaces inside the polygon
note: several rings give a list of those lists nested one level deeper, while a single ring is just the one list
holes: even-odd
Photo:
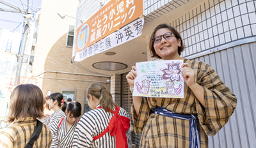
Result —
[{"label": "white tiled upper wall to the right of the smiling woman's head", "polygon": [[182,56],[256,36],[255,8],[255,0],[209,0],[173,20],[170,24],[179,31],[186,46]]}]

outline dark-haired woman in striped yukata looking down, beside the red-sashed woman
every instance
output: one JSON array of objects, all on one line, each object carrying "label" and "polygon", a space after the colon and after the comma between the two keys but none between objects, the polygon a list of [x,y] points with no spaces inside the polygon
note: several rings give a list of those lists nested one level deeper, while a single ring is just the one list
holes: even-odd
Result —
[{"label": "dark-haired woman in striped yukata looking down, beside the red-sashed woman", "polygon": [[52,123],[52,145],[51,148],[72,147],[74,132],[81,115],[81,103],[72,101],[67,106],[67,117],[58,119]]}]

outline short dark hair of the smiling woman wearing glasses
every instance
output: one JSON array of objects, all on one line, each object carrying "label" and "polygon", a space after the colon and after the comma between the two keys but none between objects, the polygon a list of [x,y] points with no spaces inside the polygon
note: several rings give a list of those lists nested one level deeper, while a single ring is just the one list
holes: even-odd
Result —
[{"label": "short dark hair of the smiling woman wearing glasses", "polygon": [[155,48],[154,48],[154,41],[153,41],[153,38],[154,38],[154,36],[155,36],[155,34],[156,34],[156,31],[158,31],[158,30],[161,29],[161,28],[167,28],[167,29],[169,29],[170,31],[172,31],[172,33],[174,34],[175,38],[177,38],[177,40],[180,39],[180,47],[178,47],[178,53],[179,53],[179,55],[180,55],[181,52],[183,52],[185,46],[184,46],[184,44],[183,44],[183,41],[182,41],[182,38],[181,38],[179,32],[178,32],[176,29],[174,29],[173,27],[168,26],[167,24],[160,24],[159,26],[157,26],[157,27],[154,29],[154,31],[153,31],[153,33],[152,33],[152,35],[151,35],[151,38],[150,38],[149,49],[150,49],[151,57],[158,57],[159,59],[162,59],[162,57],[159,57],[159,56],[156,54],[156,51],[155,51]]}]

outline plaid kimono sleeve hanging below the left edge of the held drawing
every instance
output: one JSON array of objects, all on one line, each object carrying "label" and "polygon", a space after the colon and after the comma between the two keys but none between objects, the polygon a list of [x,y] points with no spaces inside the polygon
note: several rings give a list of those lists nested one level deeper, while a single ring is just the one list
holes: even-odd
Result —
[{"label": "plaid kimono sleeve hanging below the left edge of the held drawing", "polygon": [[135,108],[131,107],[132,121],[134,122],[134,132],[138,135],[150,116],[150,107],[148,107],[147,99],[142,98],[139,114],[136,114]]}]

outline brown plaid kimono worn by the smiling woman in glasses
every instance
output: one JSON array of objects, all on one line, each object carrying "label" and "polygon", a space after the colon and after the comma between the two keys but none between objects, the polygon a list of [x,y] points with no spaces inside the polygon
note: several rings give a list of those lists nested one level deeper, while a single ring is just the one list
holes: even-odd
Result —
[{"label": "brown plaid kimono worn by the smiling woman in glasses", "polygon": [[[183,58],[184,59],[184,58]],[[208,147],[207,135],[213,136],[228,122],[236,108],[237,98],[217,73],[206,63],[189,61],[196,70],[196,82],[204,88],[205,108],[184,84],[184,98],[143,98],[139,115],[132,105],[134,131],[141,133],[140,147],[189,147],[189,121],[152,114],[156,106],[179,114],[197,114],[200,147]]]}]

